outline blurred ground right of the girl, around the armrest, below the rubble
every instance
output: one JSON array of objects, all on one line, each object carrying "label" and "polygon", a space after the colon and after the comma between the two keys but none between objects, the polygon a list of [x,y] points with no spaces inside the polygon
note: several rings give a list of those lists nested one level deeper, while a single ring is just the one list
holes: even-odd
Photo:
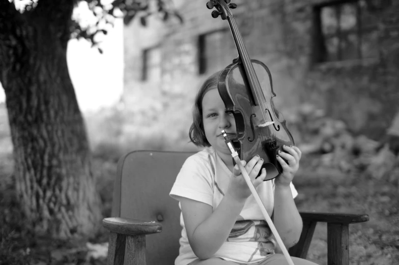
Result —
[{"label": "blurred ground right of the girl, around the armrest, below the rubble", "polygon": [[[399,264],[398,187],[362,174],[303,168],[294,184],[301,211],[367,214],[349,227],[350,264]],[[327,264],[327,225],[319,223],[307,259]]]}]

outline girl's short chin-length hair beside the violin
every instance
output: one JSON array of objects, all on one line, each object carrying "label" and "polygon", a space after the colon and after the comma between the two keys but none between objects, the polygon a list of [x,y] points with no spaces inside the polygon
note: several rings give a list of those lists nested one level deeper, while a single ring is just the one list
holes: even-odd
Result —
[{"label": "girl's short chin-length hair beside the violin", "polygon": [[218,71],[208,77],[195,96],[194,106],[192,108],[192,124],[190,126],[188,136],[190,137],[191,142],[196,146],[211,146],[207,140],[207,137],[205,136],[202,116],[202,100],[208,91],[217,89],[217,82],[221,72],[222,71]]}]

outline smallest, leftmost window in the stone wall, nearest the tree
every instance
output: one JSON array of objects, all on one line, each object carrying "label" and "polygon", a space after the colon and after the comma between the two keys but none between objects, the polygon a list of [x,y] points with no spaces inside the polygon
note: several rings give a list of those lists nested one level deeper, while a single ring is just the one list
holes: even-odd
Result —
[{"label": "smallest, leftmost window in the stone wall, nearest the tree", "polygon": [[158,47],[143,51],[143,73],[141,80],[159,81],[161,79],[161,50]]}]

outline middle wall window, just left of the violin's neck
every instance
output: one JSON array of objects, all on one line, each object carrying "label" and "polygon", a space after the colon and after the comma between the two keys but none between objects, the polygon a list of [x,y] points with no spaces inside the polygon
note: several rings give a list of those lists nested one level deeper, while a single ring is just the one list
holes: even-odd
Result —
[{"label": "middle wall window, just left of the violin's neck", "polygon": [[230,30],[223,29],[198,36],[198,72],[204,74],[223,69],[237,54]]}]

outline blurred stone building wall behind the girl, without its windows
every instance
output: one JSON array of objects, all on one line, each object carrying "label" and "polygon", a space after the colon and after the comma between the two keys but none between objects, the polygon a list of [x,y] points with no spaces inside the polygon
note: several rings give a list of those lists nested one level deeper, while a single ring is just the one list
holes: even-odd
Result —
[{"label": "blurred stone building wall behind the girl, without its windows", "polygon": [[[195,92],[207,76],[237,56],[227,22],[212,18],[206,2],[184,2],[179,7],[183,24],[152,18],[146,28],[139,26],[138,19],[125,26],[124,130],[131,137],[160,133],[171,143],[181,143],[176,149],[190,148],[186,143]],[[301,104],[311,103],[345,121],[353,133],[378,139],[399,105],[399,3],[372,1],[390,4],[373,11],[378,19],[378,56],[318,63],[315,7],[329,2],[240,0],[234,2],[238,8],[233,14],[250,57],[271,70],[275,105],[288,125]],[[199,74],[198,36],[219,30],[227,34],[219,35],[218,45],[208,50],[208,56],[217,60]],[[152,73],[142,80],[143,50],[154,47],[160,62],[154,73],[159,76]]]}]

